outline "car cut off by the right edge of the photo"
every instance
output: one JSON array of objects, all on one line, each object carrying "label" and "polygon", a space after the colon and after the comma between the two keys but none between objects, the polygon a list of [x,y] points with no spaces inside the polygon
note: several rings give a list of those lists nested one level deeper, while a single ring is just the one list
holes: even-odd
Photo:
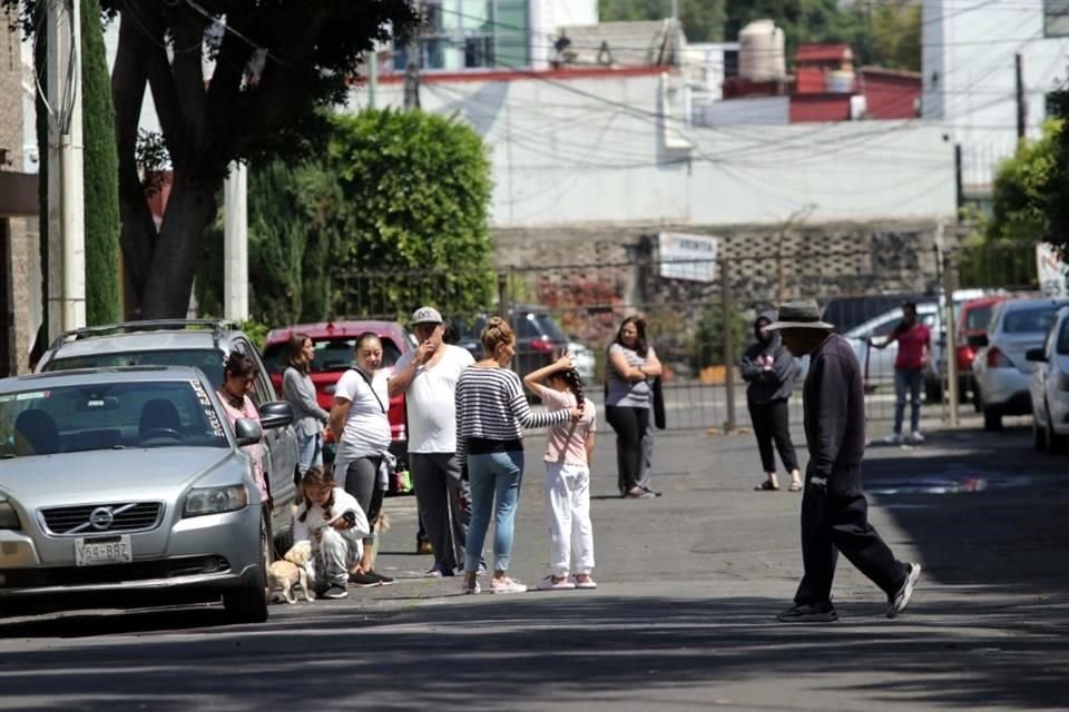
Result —
[{"label": "car cut off by the right edge of the photo", "polygon": [[1069,444],[1069,308],[1058,309],[1047,338],[1026,357],[1032,363],[1032,437],[1036,449],[1056,453]]}]

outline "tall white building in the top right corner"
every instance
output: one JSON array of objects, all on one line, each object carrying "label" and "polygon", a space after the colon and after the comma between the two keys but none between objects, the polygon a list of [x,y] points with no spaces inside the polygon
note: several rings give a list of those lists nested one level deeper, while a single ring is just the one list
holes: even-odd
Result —
[{"label": "tall white building in the top right corner", "polygon": [[922,111],[962,145],[963,180],[982,189],[1017,146],[1013,56],[1023,60],[1028,136],[1038,137],[1046,95],[1065,80],[1069,38],[1043,36],[1043,0],[924,0]]}]

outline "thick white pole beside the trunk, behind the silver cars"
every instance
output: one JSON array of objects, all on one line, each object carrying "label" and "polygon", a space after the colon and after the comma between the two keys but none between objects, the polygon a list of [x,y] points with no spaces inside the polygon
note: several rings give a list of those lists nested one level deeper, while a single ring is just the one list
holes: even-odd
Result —
[{"label": "thick white pole beside the trunk, behind the silver cars", "polygon": [[223,184],[223,316],[248,318],[248,168],[238,161]]}]

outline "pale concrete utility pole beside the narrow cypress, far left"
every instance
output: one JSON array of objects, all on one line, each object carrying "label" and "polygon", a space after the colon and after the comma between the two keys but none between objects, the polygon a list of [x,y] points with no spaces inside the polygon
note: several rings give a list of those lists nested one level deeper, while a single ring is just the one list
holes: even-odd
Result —
[{"label": "pale concrete utility pole beside the narrow cypress, far left", "polygon": [[48,334],[86,325],[79,0],[48,3]]}]

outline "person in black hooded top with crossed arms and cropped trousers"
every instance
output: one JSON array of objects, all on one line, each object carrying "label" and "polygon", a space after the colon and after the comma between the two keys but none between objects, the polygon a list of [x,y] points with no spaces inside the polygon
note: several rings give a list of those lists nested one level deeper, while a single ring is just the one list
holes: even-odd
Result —
[{"label": "person in black hooded top with crossed arms and cropped trousers", "polygon": [[791,473],[791,492],[802,490],[802,476],[798,472],[798,458],[791,442],[791,426],[787,416],[787,398],[794,390],[794,380],[798,376],[798,364],[786,349],[778,333],[766,332],[765,327],[776,320],[774,312],[766,312],[754,322],[754,336],[757,342],[746,349],[739,367],[746,387],[746,405],[749,421],[757,437],[757,451],[761,465],[765,471],[765,481],[755,487],[758,491],[779,488],[776,481],[776,457],[772,445],[779,451],[783,467]]}]

